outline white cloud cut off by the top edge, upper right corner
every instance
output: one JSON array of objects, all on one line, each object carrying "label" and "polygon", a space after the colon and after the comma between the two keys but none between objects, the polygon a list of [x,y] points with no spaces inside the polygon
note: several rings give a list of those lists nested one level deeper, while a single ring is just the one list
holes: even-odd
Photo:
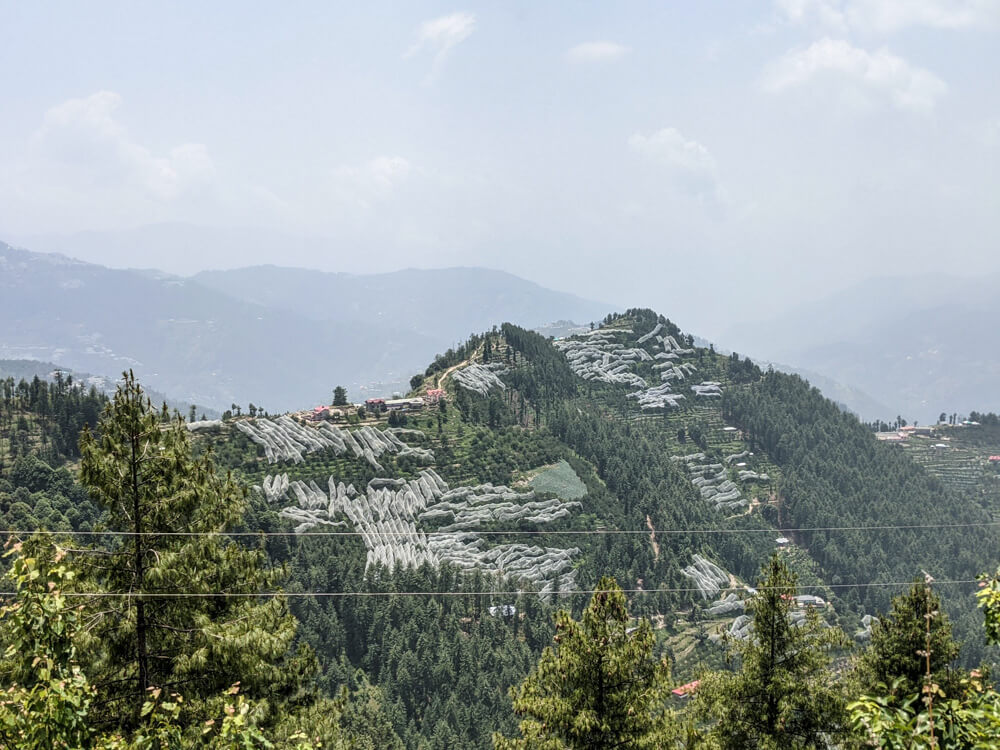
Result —
[{"label": "white cloud cut off by the top edge, upper right corner", "polygon": [[996,0],[776,0],[776,5],[794,23],[818,21],[839,31],[966,29],[1000,21]]}]

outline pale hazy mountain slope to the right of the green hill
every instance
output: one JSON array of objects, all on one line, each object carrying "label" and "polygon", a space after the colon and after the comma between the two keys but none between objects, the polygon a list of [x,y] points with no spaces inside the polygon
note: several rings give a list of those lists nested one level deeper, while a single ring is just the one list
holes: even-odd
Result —
[{"label": "pale hazy mountain slope to the right of the green hill", "polygon": [[998,275],[872,279],[720,338],[870,394],[864,402],[824,388],[864,419],[927,424],[941,412],[1000,411],[998,288]]}]

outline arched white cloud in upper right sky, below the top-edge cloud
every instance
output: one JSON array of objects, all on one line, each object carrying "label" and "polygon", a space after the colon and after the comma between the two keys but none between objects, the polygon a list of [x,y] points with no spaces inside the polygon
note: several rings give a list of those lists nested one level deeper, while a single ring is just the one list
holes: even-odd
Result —
[{"label": "arched white cloud in upper right sky, below the top-edge cloud", "polygon": [[786,53],[767,67],[762,86],[778,93],[821,76],[840,79],[858,91],[888,98],[899,109],[916,112],[933,109],[948,90],[945,82],[930,71],[886,49],[868,52],[834,39],[821,39]]}]

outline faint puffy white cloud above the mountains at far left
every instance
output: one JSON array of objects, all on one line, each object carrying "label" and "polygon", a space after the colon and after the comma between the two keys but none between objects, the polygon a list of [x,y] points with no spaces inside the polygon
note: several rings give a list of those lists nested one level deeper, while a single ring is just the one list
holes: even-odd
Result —
[{"label": "faint puffy white cloud above the mountains at far left", "polygon": [[137,186],[161,201],[212,181],[215,167],[204,144],[184,143],[157,155],[115,119],[121,103],[113,91],[99,91],[52,107],[32,136],[35,155],[84,184]]}]

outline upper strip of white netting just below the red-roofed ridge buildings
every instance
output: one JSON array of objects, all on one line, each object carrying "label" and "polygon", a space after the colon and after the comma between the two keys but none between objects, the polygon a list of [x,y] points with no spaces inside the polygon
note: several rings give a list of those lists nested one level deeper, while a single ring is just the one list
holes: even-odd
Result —
[{"label": "upper strip of white netting just below the red-roofed ridge buildings", "polygon": [[[363,458],[376,470],[383,471],[378,457],[383,453],[411,456],[420,461],[433,461],[434,454],[426,448],[413,448],[397,437],[399,430],[376,430],[365,425],[351,432],[342,430],[329,422],[320,422],[319,427],[306,427],[287,414],[277,419],[240,420],[236,429],[257,445],[263,446],[268,463],[293,461],[302,463],[303,454],[332,449],[340,456],[351,451],[357,458]],[[419,430],[406,430],[419,433]]]}]

